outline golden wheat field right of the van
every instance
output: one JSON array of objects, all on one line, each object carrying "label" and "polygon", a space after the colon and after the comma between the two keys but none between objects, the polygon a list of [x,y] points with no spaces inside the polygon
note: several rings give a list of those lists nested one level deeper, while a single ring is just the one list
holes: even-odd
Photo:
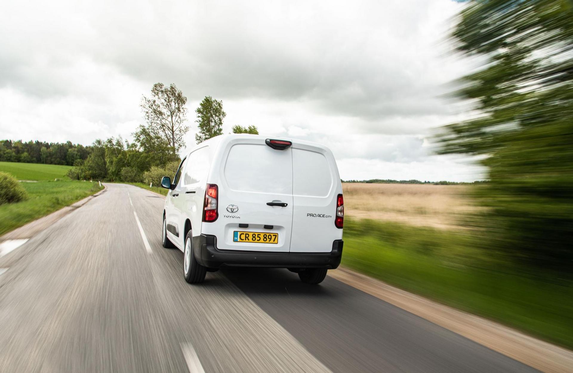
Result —
[{"label": "golden wheat field right of the van", "polygon": [[438,228],[460,227],[476,211],[465,185],[343,183],[344,213]]}]

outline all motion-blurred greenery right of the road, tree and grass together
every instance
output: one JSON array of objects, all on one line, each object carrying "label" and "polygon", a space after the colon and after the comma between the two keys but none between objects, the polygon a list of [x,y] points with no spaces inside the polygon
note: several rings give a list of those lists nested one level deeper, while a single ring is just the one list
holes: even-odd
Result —
[{"label": "all motion-blurred greenery right of the road, tree and grass together", "polygon": [[573,2],[470,1],[451,40],[481,68],[439,154],[481,159],[464,230],[344,227],[343,265],[573,348]]}]

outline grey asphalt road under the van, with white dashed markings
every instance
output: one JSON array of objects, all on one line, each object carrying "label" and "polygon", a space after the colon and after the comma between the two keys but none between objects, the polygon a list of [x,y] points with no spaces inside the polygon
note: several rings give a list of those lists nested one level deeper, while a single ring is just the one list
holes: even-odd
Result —
[{"label": "grey asphalt road under the van, with white dashed markings", "polygon": [[0,372],[535,371],[333,278],[189,285],[160,242],[163,199],[107,186],[0,258]]}]

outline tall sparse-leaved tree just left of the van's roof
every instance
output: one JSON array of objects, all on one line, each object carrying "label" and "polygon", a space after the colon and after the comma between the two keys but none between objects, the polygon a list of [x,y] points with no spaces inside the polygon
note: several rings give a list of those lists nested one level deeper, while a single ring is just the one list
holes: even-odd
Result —
[{"label": "tall sparse-leaved tree just left of the van's roof", "polygon": [[141,107],[154,135],[162,135],[171,144],[174,152],[185,146],[183,136],[189,131],[187,120],[187,97],[171,84],[165,87],[155,83],[151,88],[151,97],[143,96]]}]

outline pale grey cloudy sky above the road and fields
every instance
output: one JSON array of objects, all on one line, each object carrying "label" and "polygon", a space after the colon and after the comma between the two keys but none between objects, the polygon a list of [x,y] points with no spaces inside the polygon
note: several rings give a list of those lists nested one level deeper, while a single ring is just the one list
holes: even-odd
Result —
[{"label": "pale grey cloudy sky above the road and fields", "polygon": [[223,129],[324,143],[343,179],[476,180],[431,155],[433,128],[464,117],[440,98],[471,66],[445,36],[462,5],[393,1],[14,1],[0,13],[0,138],[90,144],[143,123],[152,84]]}]

